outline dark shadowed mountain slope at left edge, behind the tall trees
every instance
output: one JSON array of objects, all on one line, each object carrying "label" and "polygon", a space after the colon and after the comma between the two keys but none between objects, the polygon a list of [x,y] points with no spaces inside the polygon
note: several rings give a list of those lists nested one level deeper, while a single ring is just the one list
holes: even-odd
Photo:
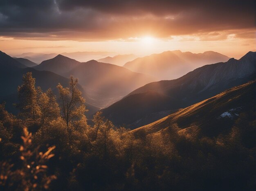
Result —
[{"label": "dark shadowed mountain slope at left edge, behind the tall trees", "polygon": [[[22,84],[22,75],[25,75],[27,72],[32,72],[33,77],[36,78],[36,86],[40,86],[44,91],[52,88],[53,92],[57,94],[58,90],[56,86],[58,83],[61,83],[65,87],[69,86],[69,79],[63,76],[49,71],[38,71],[34,68],[27,68],[16,61],[16,59],[0,52],[0,81],[2,81],[0,83],[0,103],[6,101],[7,110],[10,112],[17,112],[12,104],[17,102],[17,87]],[[80,85],[78,88],[86,99],[83,88]],[[99,108],[89,103],[86,103],[86,106],[89,113],[99,110]]]}]

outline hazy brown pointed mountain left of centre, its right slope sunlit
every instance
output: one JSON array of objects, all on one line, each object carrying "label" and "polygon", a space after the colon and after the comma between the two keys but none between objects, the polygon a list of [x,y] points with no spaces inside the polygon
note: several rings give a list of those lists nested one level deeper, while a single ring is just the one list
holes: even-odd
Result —
[{"label": "hazy brown pointed mountain left of centre, its right slope sunlit", "polygon": [[153,77],[114,64],[96,60],[79,62],[63,55],[45,60],[34,69],[54,72],[67,78],[73,75],[83,86],[87,101],[100,108],[105,108],[132,90],[155,81]]}]

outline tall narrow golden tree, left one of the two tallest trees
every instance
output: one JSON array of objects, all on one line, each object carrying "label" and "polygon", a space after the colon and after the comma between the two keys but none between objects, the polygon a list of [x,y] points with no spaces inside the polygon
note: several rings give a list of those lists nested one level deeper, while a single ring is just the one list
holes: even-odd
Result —
[{"label": "tall narrow golden tree, left one of the two tallest trees", "polygon": [[18,86],[19,103],[16,104],[20,109],[20,117],[25,119],[25,123],[38,123],[40,109],[37,104],[37,91],[35,88],[36,79],[32,77],[32,72],[23,75],[23,84]]}]

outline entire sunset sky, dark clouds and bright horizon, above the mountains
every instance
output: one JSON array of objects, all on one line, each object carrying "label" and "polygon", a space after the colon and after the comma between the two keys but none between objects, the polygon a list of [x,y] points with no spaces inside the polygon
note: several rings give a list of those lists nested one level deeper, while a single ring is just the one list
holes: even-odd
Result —
[{"label": "entire sunset sky, dark clouds and bright horizon, above the mountains", "polygon": [[7,54],[256,49],[255,0],[0,0]]}]

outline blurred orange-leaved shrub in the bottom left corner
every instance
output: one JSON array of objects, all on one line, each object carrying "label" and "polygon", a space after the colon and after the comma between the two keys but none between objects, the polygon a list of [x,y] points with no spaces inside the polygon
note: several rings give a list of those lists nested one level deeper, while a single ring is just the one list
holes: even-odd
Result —
[{"label": "blurred orange-leaved shrub in the bottom left corner", "polygon": [[4,161],[0,163],[0,188],[15,190],[42,190],[48,189],[55,175],[47,176],[47,161],[54,156],[49,147],[45,153],[39,152],[39,147],[31,150],[32,134],[24,128],[24,136],[21,136],[23,144],[20,146],[20,161],[9,164]]}]

